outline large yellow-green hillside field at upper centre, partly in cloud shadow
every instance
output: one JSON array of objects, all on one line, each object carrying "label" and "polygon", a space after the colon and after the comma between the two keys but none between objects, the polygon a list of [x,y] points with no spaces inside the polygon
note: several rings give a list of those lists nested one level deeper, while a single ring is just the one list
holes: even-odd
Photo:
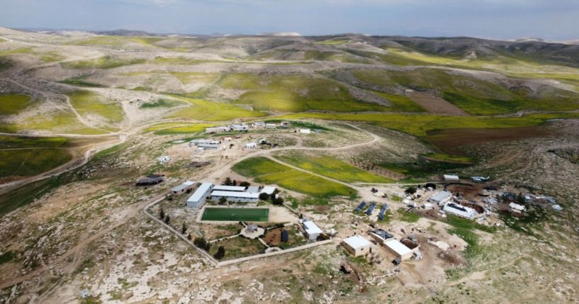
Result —
[{"label": "large yellow-green hillside field at upper centre, partly in cloud shadow", "polygon": [[218,85],[223,89],[246,91],[235,102],[262,111],[388,111],[384,106],[354,100],[346,86],[329,79],[227,74]]}]

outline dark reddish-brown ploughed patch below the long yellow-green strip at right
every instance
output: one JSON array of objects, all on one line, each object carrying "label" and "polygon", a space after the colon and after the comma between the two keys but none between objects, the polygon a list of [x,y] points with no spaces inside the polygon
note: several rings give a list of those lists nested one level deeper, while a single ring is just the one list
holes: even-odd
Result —
[{"label": "dark reddish-brown ploughed patch below the long yellow-green strip at right", "polygon": [[510,142],[525,138],[549,137],[553,131],[541,127],[507,128],[507,129],[445,129],[432,130],[428,133],[432,144],[449,154],[464,154],[461,147],[487,142]]}]

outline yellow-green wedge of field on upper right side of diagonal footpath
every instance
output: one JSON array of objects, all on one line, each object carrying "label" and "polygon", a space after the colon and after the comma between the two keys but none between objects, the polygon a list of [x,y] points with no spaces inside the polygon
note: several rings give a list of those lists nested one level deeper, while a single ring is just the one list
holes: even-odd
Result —
[{"label": "yellow-green wedge of field on upper right side of diagonal footpath", "polygon": [[316,174],[346,182],[364,183],[391,183],[392,179],[372,174],[356,168],[339,159],[329,156],[313,156],[305,154],[281,154],[275,156],[283,162],[287,162],[301,169],[312,171]]}]

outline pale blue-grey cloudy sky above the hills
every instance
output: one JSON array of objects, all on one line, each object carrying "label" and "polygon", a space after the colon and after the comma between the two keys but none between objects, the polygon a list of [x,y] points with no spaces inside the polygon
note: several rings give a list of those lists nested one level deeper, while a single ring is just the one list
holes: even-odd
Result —
[{"label": "pale blue-grey cloudy sky above the hills", "polygon": [[0,26],[579,39],[579,0],[0,0]]}]

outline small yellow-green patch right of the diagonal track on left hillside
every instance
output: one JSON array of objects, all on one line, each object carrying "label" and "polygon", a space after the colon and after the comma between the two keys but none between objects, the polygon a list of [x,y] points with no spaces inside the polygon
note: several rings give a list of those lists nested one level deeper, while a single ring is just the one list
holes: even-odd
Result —
[{"label": "small yellow-green patch right of the diagonal track on left hillside", "polygon": [[72,106],[81,116],[98,115],[109,123],[119,123],[124,119],[123,108],[117,103],[108,102],[103,96],[91,91],[76,91],[69,94]]}]

